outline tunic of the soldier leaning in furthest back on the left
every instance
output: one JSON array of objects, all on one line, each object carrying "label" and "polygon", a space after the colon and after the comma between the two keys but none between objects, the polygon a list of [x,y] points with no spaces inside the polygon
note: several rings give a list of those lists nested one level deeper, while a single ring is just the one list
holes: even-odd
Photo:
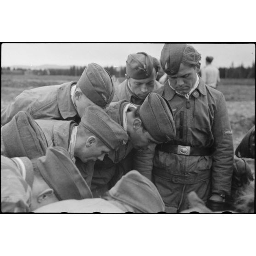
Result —
[{"label": "tunic of the soldier leaning in furthest back on the left", "polygon": [[18,111],[27,111],[33,119],[76,120],[78,113],[70,90],[77,81],[24,90],[15,101],[1,109],[1,125],[11,121]]}]

